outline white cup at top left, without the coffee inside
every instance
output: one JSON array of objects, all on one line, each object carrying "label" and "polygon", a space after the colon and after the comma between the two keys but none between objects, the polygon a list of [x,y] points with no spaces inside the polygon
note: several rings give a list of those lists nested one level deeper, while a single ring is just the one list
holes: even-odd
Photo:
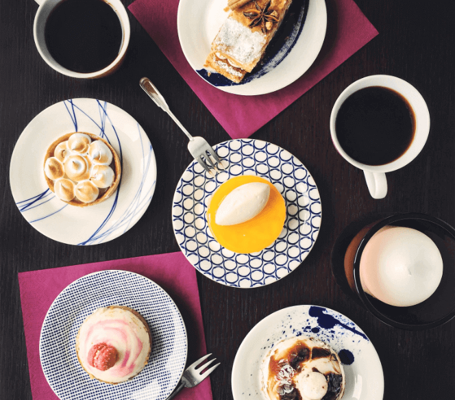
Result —
[{"label": "white cup at top left, without the coffee inside", "polygon": [[108,66],[101,69],[100,71],[95,71],[92,73],[79,73],[75,71],[71,71],[68,68],[64,68],[64,66],[60,65],[54,58],[52,57],[51,53],[49,53],[49,49],[47,49],[46,40],[45,40],[45,26],[47,23],[47,18],[51,14],[51,12],[56,8],[56,6],[64,0],[35,0],[36,3],[40,5],[38,11],[36,12],[35,21],[33,25],[33,36],[35,39],[36,48],[40,53],[41,57],[49,66],[51,66],[56,71],[62,73],[63,75],[68,75],[69,77],[75,78],[100,78],[106,75],[110,75],[114,71],[116,71],[123,59],[125,58],[125,53],[128,48],[128,44],[130,42],[130,19],[128,18],[128,14],[123,7],[123,4],[120,0],[109,0],[106,1],[108,5],[112,7],[112,9],[116,12],[117,16],[119,17],[120,25],[122,28],[122,42],[121,47],[119,50],[119,54],[116,56],[115,60],[112,61]]}]

